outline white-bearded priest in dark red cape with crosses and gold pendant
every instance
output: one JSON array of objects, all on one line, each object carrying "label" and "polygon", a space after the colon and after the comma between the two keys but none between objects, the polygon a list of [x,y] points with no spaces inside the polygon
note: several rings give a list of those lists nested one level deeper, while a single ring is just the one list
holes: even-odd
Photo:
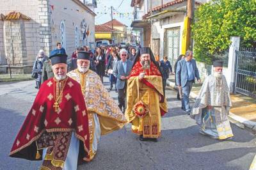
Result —
[{"label": "white-bearded priest in dark red cape with crosses and gold pendant", "polygon": [[88,158],[88,112],[81,86],[67,77],[67,55],[50,57],[45,81],[13,143],[10,157],[44,160],[40,169],[76,169]]}]

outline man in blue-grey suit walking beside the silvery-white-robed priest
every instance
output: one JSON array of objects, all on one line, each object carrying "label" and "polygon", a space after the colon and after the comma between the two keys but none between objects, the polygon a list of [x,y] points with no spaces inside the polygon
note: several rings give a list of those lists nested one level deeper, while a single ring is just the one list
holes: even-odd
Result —
[{"label": "man in blue-grey suit walking beside the silvery-white-robed priest", "polygon": [[195,83],[195,78],[200,82],[198,68],[195,59],[193,59],[193,52],[191,50],[186,52],[185,59],[181,59],[177,63],[175,76],[177,86],[179,89],[182,88],[182,109],[190,114],[189,94],[191,92],[192,84],[193,82]]}]

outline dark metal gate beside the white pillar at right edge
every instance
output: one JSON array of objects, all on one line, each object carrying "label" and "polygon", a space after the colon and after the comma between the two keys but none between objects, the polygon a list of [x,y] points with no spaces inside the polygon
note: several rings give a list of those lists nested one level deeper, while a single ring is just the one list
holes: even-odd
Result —
[{"label": "dark metal gate beside the white pillar at right edge", "polygon": [[236,50],[235,92],[256,98],[256,50]]}]

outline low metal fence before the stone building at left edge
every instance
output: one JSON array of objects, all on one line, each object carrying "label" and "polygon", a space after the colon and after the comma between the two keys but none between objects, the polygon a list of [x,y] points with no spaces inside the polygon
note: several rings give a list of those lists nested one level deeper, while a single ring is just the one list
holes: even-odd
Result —
[{"label": "low metal fence before the stone building at left edge", "polygon": [[0,65],[0,82],[31,78],[34,63]]}]

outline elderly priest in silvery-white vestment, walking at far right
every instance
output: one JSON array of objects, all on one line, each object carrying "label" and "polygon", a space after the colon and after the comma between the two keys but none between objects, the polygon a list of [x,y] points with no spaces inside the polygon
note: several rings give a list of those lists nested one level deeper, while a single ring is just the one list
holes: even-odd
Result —
[{"label": "elderly priest in silvery-white vestment, walking at far right", "polygon": [[196,98],[192,118],[200,126],[200,133],[214,139],[227,139],[233,136],[228,121],[232,106],[228,84],[222,73],[223,62],[213,62],[214,71],[206,77]]}]

